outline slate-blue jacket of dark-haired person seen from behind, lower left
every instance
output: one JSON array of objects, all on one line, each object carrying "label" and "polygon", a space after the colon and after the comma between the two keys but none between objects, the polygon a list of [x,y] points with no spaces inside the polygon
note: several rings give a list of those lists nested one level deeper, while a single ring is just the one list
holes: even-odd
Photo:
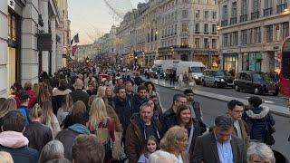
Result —
[{"label": "slate-blue jacket of dark-haired person seen from behind, lower left", "polygon": [[68,129],[63,129],[60,131],[55,138],[59,139],[63,143],[64,157],[71,161],[73,160],[73,141],[80,134],[90,134],[90,130],[80,123],[75,123]]}]

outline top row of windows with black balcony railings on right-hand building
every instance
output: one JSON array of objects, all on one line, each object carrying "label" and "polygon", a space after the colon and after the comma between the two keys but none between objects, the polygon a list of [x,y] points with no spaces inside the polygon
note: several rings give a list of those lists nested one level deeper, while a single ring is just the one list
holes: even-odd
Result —
[{"label": "top row of windows with black balcony railings on right-hand building", "polygon": [[[264,16],[269,16],[273,14],[273,6],[276,7],[276,13],[282,13],[285,8],[287,8],[287,0],[262,0],[264,1],[264,8],[263,8],[263,14]],[[248,14],[248,7],[249,3],[252,3],[252,11],[250,14]],[[241,0],[241,12],[239,21],[245,22],[248,18],[250,20],[254,20],[259,18],[262,15],[262,11],[260,9],[261,7],[261,0]],[[228,7],[227,5],[222,6],[222,21],[221,26],[228,25]],[[229,24],[237,24],[237,1],[232,2],[231,8],[230,8],[230,21]]]}]

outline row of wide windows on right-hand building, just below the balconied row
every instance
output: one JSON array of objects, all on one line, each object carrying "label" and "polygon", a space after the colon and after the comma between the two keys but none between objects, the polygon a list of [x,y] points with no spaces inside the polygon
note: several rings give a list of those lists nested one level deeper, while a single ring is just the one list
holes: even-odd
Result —
[{"label": "row of wide windows on right-hand building, just below the balconied row", "polygon": [[[282,29],[280,29],[282,27]],[[284,40],[289,36],[289,22],[283,24],[271,24],[265,27],[266,43],[272,43],[276,41]],[[240,44],[255,44],[262,43],[262,27],[255,27],[247,30],[242,30],[240,32]],[[282,35],[282,38],[281,36]],[[238,32],[232,32],[222,35],[223,47],[227,46],[237,46],[238,43]]]}]

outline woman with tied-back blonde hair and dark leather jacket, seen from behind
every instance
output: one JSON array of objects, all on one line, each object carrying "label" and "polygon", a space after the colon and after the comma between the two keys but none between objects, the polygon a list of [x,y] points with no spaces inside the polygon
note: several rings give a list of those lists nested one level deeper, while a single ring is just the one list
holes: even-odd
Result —
[{"label": "woman with tied-back blonde hair and dark leather jacket, seen from behind", "polygon": [[52,130],[42,124],[43,109],[36,103],[29,112],[30,123],[24,130],[24,136],[29,140],[28,146],[42,151],[46,143],[53,139]]}]

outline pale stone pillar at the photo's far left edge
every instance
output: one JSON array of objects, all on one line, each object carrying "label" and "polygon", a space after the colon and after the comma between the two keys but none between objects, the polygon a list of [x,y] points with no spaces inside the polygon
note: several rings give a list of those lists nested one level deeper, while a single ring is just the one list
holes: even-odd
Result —
[{"label": "pale stone pillar at the photo's far left edge", "polygon": [[7,97],[7,38],[8,38],[8,4],[7,1],[0,1],[0,97]]}]

